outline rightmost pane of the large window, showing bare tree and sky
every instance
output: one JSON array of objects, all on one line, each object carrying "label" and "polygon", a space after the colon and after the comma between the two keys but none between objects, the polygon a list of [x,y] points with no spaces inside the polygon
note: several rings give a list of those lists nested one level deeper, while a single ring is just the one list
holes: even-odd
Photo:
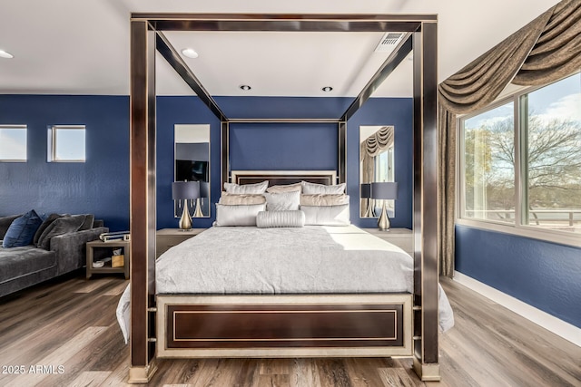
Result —
[{"label": "rightmost pane of the large window, showing bare tree and sky", "polygon": [[581,74],[520,97],[523,223],[581,233]]}]

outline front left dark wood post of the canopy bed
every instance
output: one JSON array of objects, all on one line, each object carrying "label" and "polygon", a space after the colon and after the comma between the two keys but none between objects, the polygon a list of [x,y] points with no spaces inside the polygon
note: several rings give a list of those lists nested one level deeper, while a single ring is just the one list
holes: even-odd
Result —
[{"label": "front left dark wood post of the canopy bed", "polygon": [[149,382],[155,343],[155,33],[131,21],[131,367],[130,383]]}]

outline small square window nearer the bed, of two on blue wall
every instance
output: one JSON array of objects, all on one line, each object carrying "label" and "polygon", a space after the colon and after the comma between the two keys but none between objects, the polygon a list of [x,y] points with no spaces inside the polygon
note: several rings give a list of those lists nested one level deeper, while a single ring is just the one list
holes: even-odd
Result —
[{"label": "small square window nearer the bed, of two on blue wall", "polygon": [[84,126],[52,126],[48,130],[49,162],[84,162]]}]

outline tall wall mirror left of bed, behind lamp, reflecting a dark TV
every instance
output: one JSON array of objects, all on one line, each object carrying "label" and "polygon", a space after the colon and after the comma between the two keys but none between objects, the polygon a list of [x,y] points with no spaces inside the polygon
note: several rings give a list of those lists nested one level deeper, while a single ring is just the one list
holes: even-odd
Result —
[{"label": "tall wall mirror left of bed, behind lamp, reflecting a dark TV", "polygon": [[[195,218],[210,217],[210,125],[174,125],[173,181],[200,181],[200,198],[188,203]],[[174,216],[182,215],[182,201],[174,201]],[[196,211],[199,208],[202,210]]]}]

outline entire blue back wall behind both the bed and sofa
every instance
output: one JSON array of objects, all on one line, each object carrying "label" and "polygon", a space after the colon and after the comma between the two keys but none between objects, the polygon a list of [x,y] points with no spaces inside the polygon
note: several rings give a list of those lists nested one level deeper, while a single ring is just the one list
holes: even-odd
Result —
[{"label": "entire blue back wall behind both the bed and sofa", "polygon": [[[216,97],[236,118],[339,118],[350,98]],[[28,125],[28,162],[0,163],[0,215],[25,212],[94,213],[112,230],[129,227],[129,98],[126,96],[0,95],[0,124]],[[157,227],[176,227],[173,217],[173,125],[211,126],[212,203],[220,197],[220,121],[197,97],[157,98]],[[46,127],[86,125],[85,163],[46,162]],[[348,194],[351,221],[359,218],[359,125],[395,125],[399,199],[393,227],[411,227],[410,99],[371,99],[348,122]],[[231,124],[232,169],[336,169],[337,125]],[[210,227],[214,219],[196,218]]]}]

